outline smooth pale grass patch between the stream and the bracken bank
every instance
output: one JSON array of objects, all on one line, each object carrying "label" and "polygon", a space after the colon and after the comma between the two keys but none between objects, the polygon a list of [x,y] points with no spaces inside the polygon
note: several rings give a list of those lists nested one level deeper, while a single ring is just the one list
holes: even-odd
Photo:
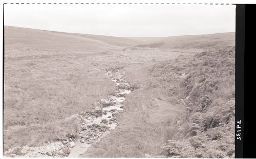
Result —
[{"label": "smooth pale grass patch between the stream and the bracken bank", "polygon": [[176,113],[166,111],[168,116],[158,118],[162,114],[153,114],[152,111],[156,107],[163,108],[163,105],[158,105],[158,100],[154,98],[151,92],[135,90],[124,103],[124,113],[118,127],[82,156],[145,157],[145,154],[159,154],[161,145],[166,141],[163,124],[168,117],[175,117]]}]

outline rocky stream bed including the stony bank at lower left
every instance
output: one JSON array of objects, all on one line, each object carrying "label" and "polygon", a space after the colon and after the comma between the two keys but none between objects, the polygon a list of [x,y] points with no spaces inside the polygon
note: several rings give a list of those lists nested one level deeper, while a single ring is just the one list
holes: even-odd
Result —
[{"label": "rocky stream bed including the stony bank at lower left", "polygon": [[[44,143],[39,147],[15,147],[4,154],[10,157],[78,157],[88,148],[99,141],[104,135],[110,133],[118,124],[118,117],[123,110],[122,102],[125,96],[131,93],[129,82],[122,78],[119,69],[109,70],[105,73],[117,85],[116,92],[106,99],[101,99],[95,109],[80,112],[71,118],[77,118],[80,124],[78,136],[68,134],[65,139],[56,142]],[[18,154],[15,152],[19,152]]]}]

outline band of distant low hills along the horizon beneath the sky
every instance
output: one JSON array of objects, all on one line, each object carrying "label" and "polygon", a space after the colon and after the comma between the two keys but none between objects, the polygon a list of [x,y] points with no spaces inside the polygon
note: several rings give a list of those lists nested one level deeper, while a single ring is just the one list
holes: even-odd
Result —
[{"label": "band of distant low hills along the horizon beneath the sky", "polygon": [[6,44],[24,43],[31,46],[37,44],[38,46],[38,43],[44,43],[44,46],[47,44],[47,47],[52,48],[56,48],[56,45],[61,46],[59,49],[63,50],[76,48],[95,50],[119,46],[161,49],[211,49],[233,46],[234,35],[235,33],[232,32],[170,37],[114,37],[5,26]]}]

